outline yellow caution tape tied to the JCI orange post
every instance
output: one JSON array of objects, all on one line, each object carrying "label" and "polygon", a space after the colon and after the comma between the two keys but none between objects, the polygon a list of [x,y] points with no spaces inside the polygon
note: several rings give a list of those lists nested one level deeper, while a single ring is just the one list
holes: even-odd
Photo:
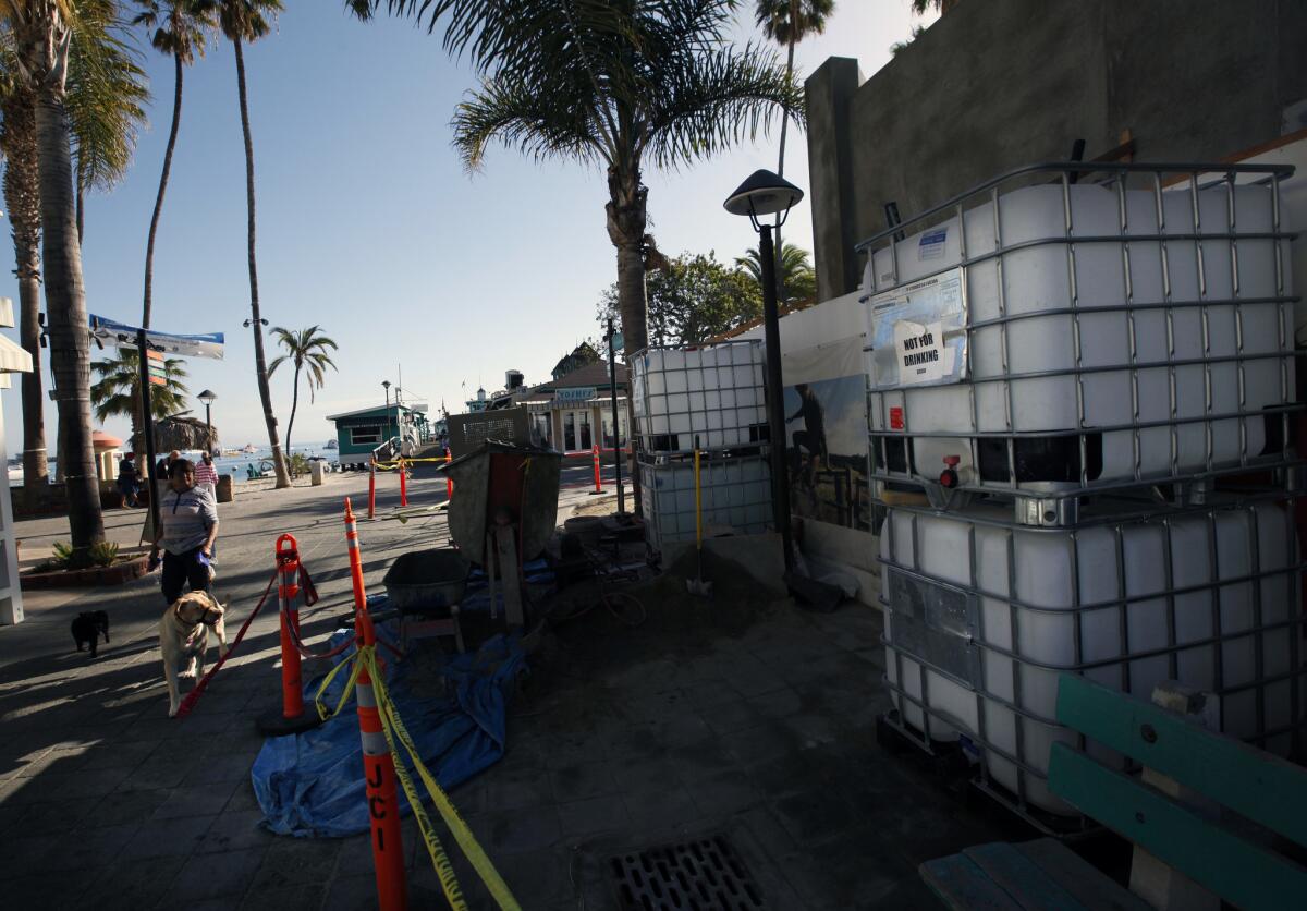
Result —
[{"label": "yellow caution tape tied to the JCI orange post", "polygon": [[[346,664],[353,664],[353,671],[349,678],[345,681],[345,689],[341,693],[340,701],[336,703],[336,708],[327,714],[327,707],[323,704],[323,693],[331,685],[331,681],[336,677],[341,668]],[[391,701],[389,693],[386,689],[384,676],[382,669],[376,663],[376,646],[363,646],[352,657],[341,661],[331,673],[323,680],[322,685],[318,687],[318,693],[314,695],[314,703],[318,706],[318,714],[323,720],[340,714],[341,708],[345,706],[345,701],[354,689],[354,684],[358,681],[358,674],[363,668],[367,668],[369,677],[372,681],[372,693],[376,697],[378,714],[382,719],[382,733],[386,735],[386,744],[391,750],[391,761],[395,765],[395,774],[400,780],[400,786],[404,788],[404,793],[408,796],[409,806],[413,808],[413,817],[417,820],[418,831],[422,834],[422,840],[426,843],[426,851],[431,856],[431,864],[435,867],[437,877],[440,880],[440,889],[444,891],[444,897],[450,902],[450,907],[455,911],[464,911],[468,906],[463,898],[463,890],[459,886],[459,880],[454,873],[454,867],[450,864],[450,857],[444,852],[444,847],[440,844],[440,838],[437,835],[435,827],[431,825],[431,820],[422,806],[422,797],[413,784],[413,779],[409,776],[408,767],[405,766],[399,749],[396,748],[396,738],[404,745],[404,752],[408,753],[409,761],[413,763],[413,769],[417,770],[418,776],[422,779],[422,784],[426,786],[426,791],[431,797],[431,803],[440,812],[440,818],[444,820],[444,825],[451,833],[454,833],[454,840],[459,843],[463,848],[463,855],[472,863],[472,867],[477,870],[481,881],[485,884],[490,895],[494,898],[495,903],[503,911],[521,911],[521,906],[518,904],[518,899],[512,897],[512,891],[508,885],[499,876],[499,872],[490,863],[490,857],[486,856],[481,844],[477,842],[476,835],[468,827],[468,823],[463,821],[459,816],[457,808],[450,801],[448,795],[440,788],[440,784],[435,780],[435,776],[427,770],[422,763],[422,758],[413,745],[413,738],[409,737],[408,729],[404,727],[404,719],[400,718],[399,710]]]}]

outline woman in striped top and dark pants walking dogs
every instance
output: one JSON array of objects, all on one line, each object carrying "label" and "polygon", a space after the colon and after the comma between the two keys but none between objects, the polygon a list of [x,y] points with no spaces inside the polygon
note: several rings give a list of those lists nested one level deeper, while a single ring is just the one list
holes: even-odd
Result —
[{"label": "woman in striped top and dark pants walking dogs", "polygon": [[195,463],[178,459],[169,468],[169,490],[159,499],[159,528],[150,561],[163,546],[163,600],[173,604],[190,583],[192,592],[209,591],[209,561],[218,538],[218,511],[208,490],[195,484]]}]

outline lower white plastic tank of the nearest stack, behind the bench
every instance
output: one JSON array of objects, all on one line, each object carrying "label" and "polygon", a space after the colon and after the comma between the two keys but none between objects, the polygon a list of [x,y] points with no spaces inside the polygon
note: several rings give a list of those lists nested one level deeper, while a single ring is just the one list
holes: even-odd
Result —
[{"label": "lower white plastic tank of the nearest stack, behind the bench", "polygon": [[[1077,529],[1014,528],[1008,515],[890,510],[886,668],[910,725],[935,740],[966,736],[999,784],[1069,814],[1044,780],[1052,742],[1074,742],[1053,723],[1060,673],[1145,699],[1162,680],[1222,693],[1222,729],[1240,738],[1298,720],[1307,694],[1286,674],[1303,655],[1286,623],[1299,592],[1285,571],[1298,546],[1283,503]],[[1290,742],[1280,733],[1264,748],[1286,755]]]}]

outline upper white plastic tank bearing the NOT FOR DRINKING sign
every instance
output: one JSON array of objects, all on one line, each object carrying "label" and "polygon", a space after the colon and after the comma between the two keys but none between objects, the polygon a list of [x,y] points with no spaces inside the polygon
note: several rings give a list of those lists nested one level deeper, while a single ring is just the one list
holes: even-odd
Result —
[{"label": "upper white plastic tank bearing the NOT FOR DRINKING sign", "polygon": [[[1270,238],[1192,239],[1272,233],[1272,188],[1170,190],[1161,222],[1150,190],[1017,190],[999,197],[997,226],[984,203],[961,230],[953,217],[873,251],[872,430],[912,437],[931,478],[951,455],[976,476],[975,433],[1104,429],[1102,481],[1231,467],[1280,446],[1268,429],[1278,418],[1261,412],[1294,383],[1289,242],[1277,263]],[[938,324],[945,370],[903,375],[901,323]]]}]

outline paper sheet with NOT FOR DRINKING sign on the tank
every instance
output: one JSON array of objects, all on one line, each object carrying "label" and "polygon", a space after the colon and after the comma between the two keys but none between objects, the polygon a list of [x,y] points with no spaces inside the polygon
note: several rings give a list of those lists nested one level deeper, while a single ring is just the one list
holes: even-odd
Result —
[{"label": "paper sheet with NOT FOR DRINKING sign on the tank", "polygon": [[873,389],[966,379],[961,268],[876,294],[868,306]]}]

